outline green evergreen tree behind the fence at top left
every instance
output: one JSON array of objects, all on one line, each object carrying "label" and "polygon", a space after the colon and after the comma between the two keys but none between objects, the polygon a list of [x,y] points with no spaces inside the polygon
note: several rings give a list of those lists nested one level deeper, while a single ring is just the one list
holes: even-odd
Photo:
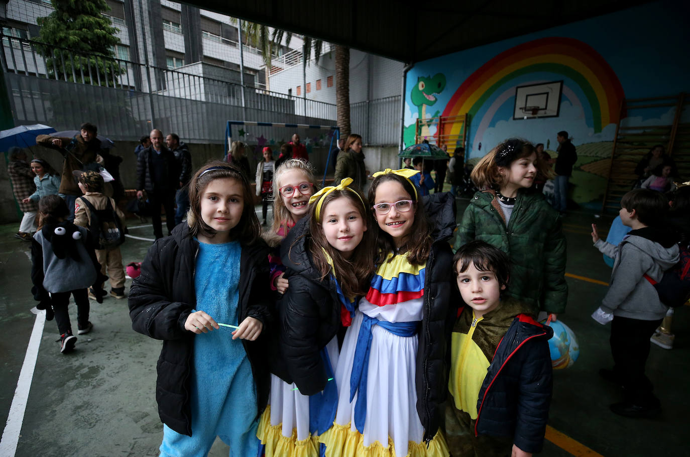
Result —
[{"label": "green evergreen tree behind the fence at top left", "polygon": [[38,52],[46,57],[52,77],[68,81],[113,86],[124,72],[113,47],[120,43],[118,29],[101,12],[106,0],[51,0],[55,8],[48,17],[37,18],[41,32]]}]

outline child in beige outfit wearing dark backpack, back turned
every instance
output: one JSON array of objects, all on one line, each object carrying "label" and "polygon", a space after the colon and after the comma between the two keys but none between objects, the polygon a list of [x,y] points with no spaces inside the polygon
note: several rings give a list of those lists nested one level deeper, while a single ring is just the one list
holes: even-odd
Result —
[{"label": "child in beige outfit wearing dark backpack, back turned", "polygon": [[[125,215],[115,200],[103,195],[103,177],[99,173],[84,171],[78,184],[84,195],[75,202],[75,225],[88,228],[94,238],[101,273],[106,275],[107,270],[110,278],[110,295],[124,298],[125,271],[119,246],[124,242]],[[95,300],[92,290],[88,295]]]}]

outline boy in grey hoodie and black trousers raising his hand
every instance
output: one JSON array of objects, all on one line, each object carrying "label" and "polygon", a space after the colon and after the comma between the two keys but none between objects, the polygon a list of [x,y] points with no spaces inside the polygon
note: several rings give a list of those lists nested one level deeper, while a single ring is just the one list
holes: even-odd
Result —
[{"label": "boy in grey hoodie and black trousers raising his hand", "polygon": [[664,194],[635,189],[623,195],[620,206],[620,219],[632,230],[618,246],[600,240],[592,224],[594,246],[614,259],[609,291],[595,311],[613,315],[613,369],[600,369],[599,374],[623,387],[624,400],[613,403],[611,411],[619,416],[651,418],[659,414],[660,402],[644,375],[644,364],[649,357],[649,338],[669,309],[653,283],[678,264],[678,240],[662,224],[669,208]]}]

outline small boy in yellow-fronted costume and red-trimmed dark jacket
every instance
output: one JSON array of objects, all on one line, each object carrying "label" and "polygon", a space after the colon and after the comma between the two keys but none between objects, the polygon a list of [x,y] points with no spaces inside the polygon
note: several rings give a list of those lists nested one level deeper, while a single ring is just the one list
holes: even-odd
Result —
[{"label": "small boy in yellow-fronted costume and red-trimmed dark jacket", "polygon": [[509,260],[482,241],[453,257],[462,300],[451,336],[446,442],[452,456],[525,457],[544,443],[553,336],[529,307],[502,300]]}]

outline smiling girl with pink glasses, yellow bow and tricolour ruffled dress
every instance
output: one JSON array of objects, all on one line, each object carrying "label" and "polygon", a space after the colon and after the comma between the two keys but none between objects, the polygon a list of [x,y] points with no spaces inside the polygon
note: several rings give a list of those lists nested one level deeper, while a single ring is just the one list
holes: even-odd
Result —
[{"label": "smiling girl with pink glasses, yellow bow and tricolour ruffled dress", "polygon": [[335,369],[333,427],[319,436],[326,457],[446,457],[439,433],[444,412],[446,338],[460,302],[448,240],[455,199],[420,200],[419,171],[374,173],[369,191],[379,247],[376,271],[359,300]]}]

